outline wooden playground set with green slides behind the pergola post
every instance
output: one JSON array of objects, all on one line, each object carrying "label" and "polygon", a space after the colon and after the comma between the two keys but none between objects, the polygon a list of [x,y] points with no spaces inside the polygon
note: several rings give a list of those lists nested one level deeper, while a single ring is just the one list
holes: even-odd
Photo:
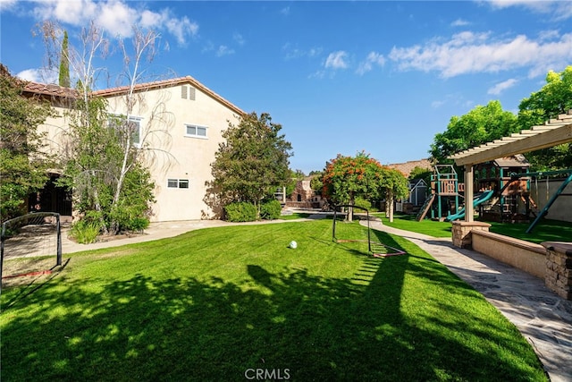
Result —
[{"label": "wooden playground set with green slides behind the pergola post", "polygon": [[[475,166],[475,185],[479,190],[474,195],[473,206],[478,208],[479,216],[487,221],[529,222],[526,230],[530,233],[534,225],[546,216],[559,196],[571,196],[564,193],[568,183],[572,182],[572,169],[551,172],[529,172],[529,164],[522,155],[503,157]],[[553,175],[568,175],[560,184],[542,210],[531,198],[531,190],[538,189],[540,179],[548,180]],[[548,192],[548,189],[547,189]],[[538,192],[536,192],[538,194]],[[436,165],[431,176],[431,195],[419,209],[416,220],[425,217],[439,221],[454,221],[465,217],[465,187],[458,182],[458,174],[452,165]]]}]

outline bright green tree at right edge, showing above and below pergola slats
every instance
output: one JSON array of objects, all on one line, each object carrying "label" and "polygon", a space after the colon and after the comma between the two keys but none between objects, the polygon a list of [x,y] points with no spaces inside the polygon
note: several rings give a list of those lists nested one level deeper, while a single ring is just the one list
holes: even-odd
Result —
[{"label": "bright green tree at right edge, showing above and below pergola slats", "polygon": [[[521,129],[542,125],[551,118],[572,109],[572,66],[562,72],[548,72],[542,89],[524,98],[518,106]],[[536,170],[555,170],[572,167],[572,144],[534,151],[526,155]]]}]

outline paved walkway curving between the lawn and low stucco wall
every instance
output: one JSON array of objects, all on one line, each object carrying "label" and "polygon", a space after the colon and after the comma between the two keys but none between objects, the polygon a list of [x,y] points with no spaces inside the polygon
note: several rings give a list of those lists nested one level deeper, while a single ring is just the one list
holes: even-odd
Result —
[{"label": "paved walkway curving between the lawn and low stucco wall", "polygon": [[370,221],[370,226],[415,243],[472,285],[533,345],[551,381],[572,381],[572,301],[551,292],[540,278],[474,250],[454,247],[450,238],[403,231],[381,221]]}]

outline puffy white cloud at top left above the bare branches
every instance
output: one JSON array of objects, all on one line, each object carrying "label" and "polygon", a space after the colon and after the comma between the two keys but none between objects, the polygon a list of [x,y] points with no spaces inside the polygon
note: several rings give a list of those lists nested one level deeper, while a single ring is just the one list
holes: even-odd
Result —
[{"label": "puffy white cloud at top left above the bare branches", "polygon": [[34,4],[32,13],[38,20],[55,20],[76,27],[95,21],[106,33],[123,38],[130,38],[136,25],[166,30],[179,44],[198,33],[198,24],[187,16],[177,17],[168,8],[159,12],[134,8],[134,3],[126,0],[36,0]]}]

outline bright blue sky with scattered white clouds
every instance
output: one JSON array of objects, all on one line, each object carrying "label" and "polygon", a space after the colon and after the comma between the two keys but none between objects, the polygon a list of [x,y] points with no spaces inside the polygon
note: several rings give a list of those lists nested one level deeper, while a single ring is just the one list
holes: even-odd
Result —
[{"label": "bright blue sky with scattered white clouds", "polygon": [[[39,21],[60,22],[72,45],[89,21],[112,45],[132,25],[154,28],[153,72],[269,113],[306,174],[361,150],[382,164],[428,157],[451,116],[492,99],[517,112],[548,71],[572,64],[568,1],[0,0],[0,12],[0,62],[31,81],[54,78],[42,75]],[[114,76],[120,63],[102,65]]]}]

